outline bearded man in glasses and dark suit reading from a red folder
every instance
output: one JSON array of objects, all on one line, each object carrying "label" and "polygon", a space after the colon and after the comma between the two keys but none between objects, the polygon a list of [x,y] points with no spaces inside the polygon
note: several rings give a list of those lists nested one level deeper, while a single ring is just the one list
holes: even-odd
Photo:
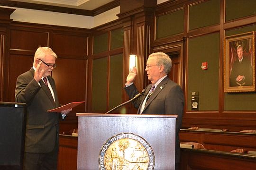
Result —
[{"label": "bearded man in glasses and dark suit reading from a red folder", "polygon": [[59,107],[55,81],[50,76],[57,55],[48,47],[39,47],[33,67],[18,76],[15,101],[27,104],[24,170],[56,170],[59,118],[62,114],[46,112]]}]

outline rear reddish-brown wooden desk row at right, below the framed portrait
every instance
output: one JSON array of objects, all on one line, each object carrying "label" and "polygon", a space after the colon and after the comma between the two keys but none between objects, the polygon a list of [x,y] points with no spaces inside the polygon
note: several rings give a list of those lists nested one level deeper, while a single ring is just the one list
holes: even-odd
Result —
[{"label": "rear reddish-brown wooden desk row at right, below the framed portrait", "polygon": [[205,149],[230,152],[235,149],[256,151],[256,134],[180,129],[180,142],[197,142]]}]

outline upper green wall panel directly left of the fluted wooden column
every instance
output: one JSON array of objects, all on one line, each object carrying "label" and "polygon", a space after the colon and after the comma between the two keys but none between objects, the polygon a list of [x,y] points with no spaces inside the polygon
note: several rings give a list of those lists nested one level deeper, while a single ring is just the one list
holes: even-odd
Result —
[{"label": "upper green wall panel directly left of the fluted wooden column", "polygon": [[124,30],[117,29],[110,32],[110,49],[117,49],[123,47],[124,44]]}]

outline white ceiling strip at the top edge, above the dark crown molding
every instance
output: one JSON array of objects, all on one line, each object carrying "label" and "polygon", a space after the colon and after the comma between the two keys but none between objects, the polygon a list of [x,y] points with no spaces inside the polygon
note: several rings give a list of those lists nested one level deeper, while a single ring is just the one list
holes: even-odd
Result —
[{"label": "white ceiling strip at the top edge, above the dark crown molding", "polygon": [[78,8],[93,10],[114,0],[12,0],[19,2],[52,5],[57,7]]}]

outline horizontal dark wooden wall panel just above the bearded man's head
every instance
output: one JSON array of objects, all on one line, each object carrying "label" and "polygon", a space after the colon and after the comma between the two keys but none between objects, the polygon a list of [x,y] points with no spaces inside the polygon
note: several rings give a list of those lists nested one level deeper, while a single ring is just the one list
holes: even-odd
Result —
[{"label": "horizontal dark wooden wall panel just above the bearded man's head", "polygon": [[48,46],[49,33],[44,31],[11,30],[10,48],[21,51],[36,51],[38,46]]}]

